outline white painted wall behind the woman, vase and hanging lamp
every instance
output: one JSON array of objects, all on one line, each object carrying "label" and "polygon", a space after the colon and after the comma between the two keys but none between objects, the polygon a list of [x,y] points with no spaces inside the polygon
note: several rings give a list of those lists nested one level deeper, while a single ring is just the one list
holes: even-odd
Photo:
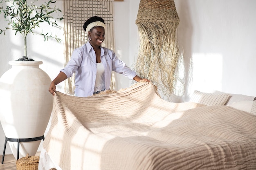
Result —
[{"label": "white painted wall behind the woman, vase and hanging lamp", "polygon": [[[60,8],[62,3],[57,1]],[[139,49],[135,24],[139,0],[113,3],[116,53],[132,68]],[[185,94],[175,101],[186,101],[194,90],[256,96],[256,1],[175,0],[175,4],[180,17],[178,41],[186,66]],[[1,16],[1,26],[2,20]],[[63,37],[62,23],[60,26],[52,31]],[[6,37],[0,35],[0,76],[11,68],[9,60],[23,55],[22,44],[22,38],[14,36],[13,32],[7,32]],[[53,40],[43,42],[43,38],[30,35],[28,46],[28,55],[42,60],[40,68],[53,79],[63,68],[63,44]],[[126,77],[117,75],[117,89],[127,88],[131,83]],[[57,90],[63,92],[63,83]],[[0,155],[3,146],[4,133],[0,127]],[[8,147],[6,153],[10,154]]]}]

